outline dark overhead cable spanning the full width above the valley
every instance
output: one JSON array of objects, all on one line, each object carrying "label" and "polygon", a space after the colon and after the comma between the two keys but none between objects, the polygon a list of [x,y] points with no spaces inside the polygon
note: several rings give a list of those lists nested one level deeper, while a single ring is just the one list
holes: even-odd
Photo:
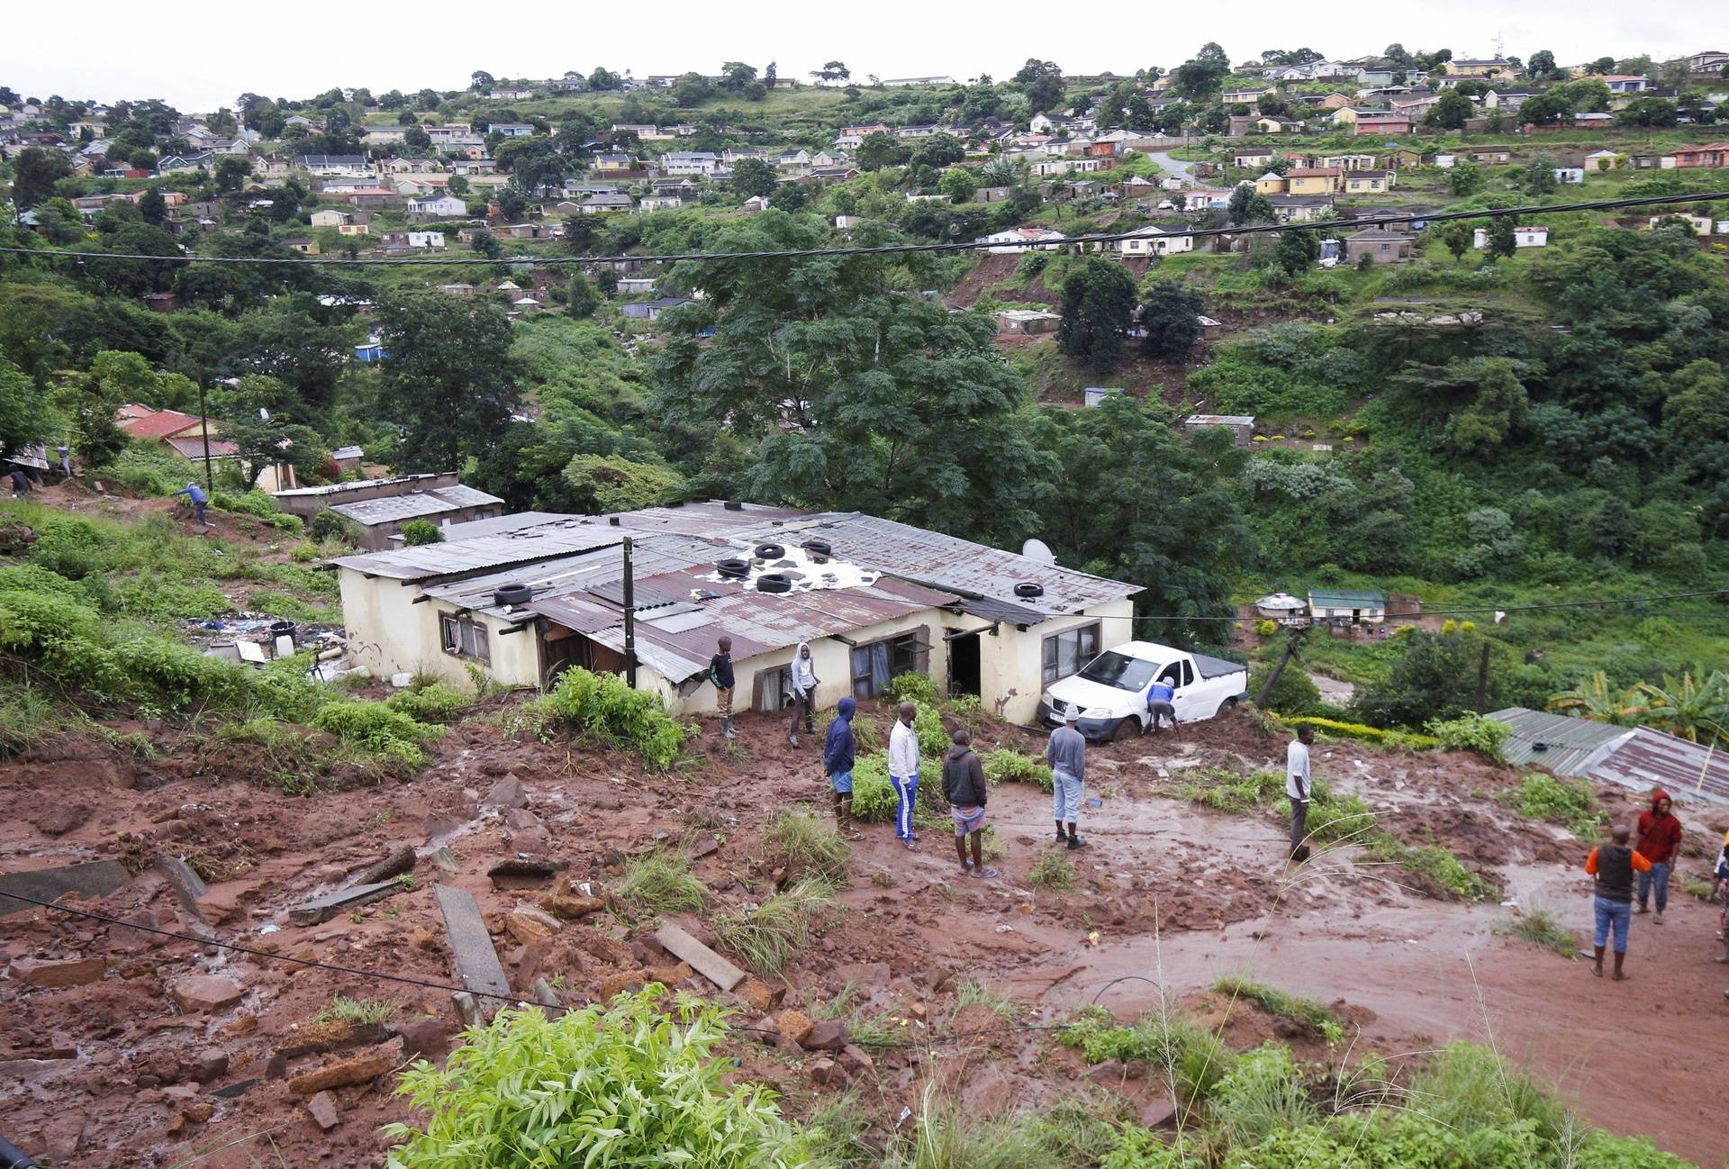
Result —
[{"label": "dark overhead cable spanning the full width above the valley", "polygon": [[[1210,239],[1215,235],[1264,235],[1279,232],[1337,232],[1342,228],[1357,230],[1361,227],[1387,227],[1390,223],[1445,223],[1451,220],[1494,220],[1501,216],[1525,216],[1525,214],[1558,214],[1566,211],[1606,211],[1613,208],[1656,208],[1677,202],[1708,202],[1713,199],[1729,199],[1729,190],[1710,190],[1694,192],[1688,195],[1639,195],[1634,199],[1598,199],[1591,202],[1558,202],[1558,204],[1527,204],[1523,208],[1483,208],[1478,211],[1435,211],[1435,213],[1418,213],[1418,214],[1375,214],[1359,216],[1356,220],[1319,220],[1307,223],[1248,223],[1243,227],[1198,227],[1186,228],[1181,232],[1171,232],[1172,235],[1188,235],[1193,239]],[[1075,244],[1115,244],[1127,239],[1143,239],[1136,232],[1112,232],[1112,233],[1094,233],[1094,235],[1072,235],[1062,240],[1051,240],[1048,244],[1030,242],[1024,246],[1024,251],[1062,251]],[[764,252],[667,252],[667,254],[650,254],[650,256],[500,256],[498,259],[488,259],[484,256],[396,256],[396,258],[330,258],[315,259],[311,256],[145,256],[140,252],[74,252],[74,251],[55,251],[48,247],[0,247],[0,252],[14,252],[24,256],[55,256],[69,259],[154,259],[157,263],[183,263],[183,265],[297,265],[311,268],[367,268],[367,266],[396,266],[396,268],[444,268],[460,265],[501,265],[501,263],[533,263],[543,268],[564,266],[564,265],[624,265],[624,263],[679,263],[685,259],[823,259],[837,256],[901,256],[915,252],[965,252],[965,251],[992,251],[998,247],[1013,247],[1011,244],[989,242],[989,240],[965,240],[954,244],[885,244],[882,247],[809,247],[809,249],[788,249],[788,251],[764,251]]]}]

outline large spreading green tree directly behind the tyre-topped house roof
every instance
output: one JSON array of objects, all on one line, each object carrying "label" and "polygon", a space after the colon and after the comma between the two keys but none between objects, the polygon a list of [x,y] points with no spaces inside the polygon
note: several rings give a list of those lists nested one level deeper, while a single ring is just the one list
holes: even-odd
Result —
[{"label": "large spreading green tree directly behind the tyre-topped house roof", "polygon": [[[854,239],[903,237],[864,223]],[[820,223],[766,211],[721,232],[711,258],[676,268],[709,297],[662,322],[657,412],[685,436],[669,451],[697,477],[726,434],[747,448],[733,484],[747,498],[982,540],[1030,534],[1039,462],[1013,424],[1025,389],[992,349],[989,318],[899,291],[930,287],[928,258],[719,254],[825,244]]]}]

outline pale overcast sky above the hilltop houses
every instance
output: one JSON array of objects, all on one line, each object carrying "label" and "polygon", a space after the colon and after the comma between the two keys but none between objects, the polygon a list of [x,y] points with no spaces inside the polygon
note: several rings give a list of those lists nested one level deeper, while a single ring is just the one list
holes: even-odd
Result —
[{"label": "pale overcast sky above the hilltop houses", "polygon": [[[1449,0],[1338,9],[1271,0],[1235,5],[1103,3],[1063,9],[998,3],[220,3],[163,9],[137,0],[9,5],[0,33],[0,85],[26,97],[97,100],[161,97],[182,111],[233,104],[244,92],[311,97],[334,85],[453,90],[486,69],[545,78],[595,66],[636,74],[716,73],[721,61],[776,61],[804,76],[844,61],[856,78],[1011,74],[1029,57],[1065,73],[1134,73],[1181,64],[1205,42],[1233,61],[1309,45],[1328,57],[1406,48],[1490,55],[1549,48],[1565,62],[1603,55],[1675,57],[1729,48],[1713,0]],[[1373,12],[1373,17],[1369,16]],[[1369,29],[1380,31],[1369,31]],[[1710,43],[1705,43],[1710,42]]]}]

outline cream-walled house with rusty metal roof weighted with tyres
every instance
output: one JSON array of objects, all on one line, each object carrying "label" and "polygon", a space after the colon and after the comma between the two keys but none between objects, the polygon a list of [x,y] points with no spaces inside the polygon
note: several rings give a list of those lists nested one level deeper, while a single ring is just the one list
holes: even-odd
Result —
[{"label": "cream-walled house with rusty metal roof weighted with tyres", "polygon": [[635,545],[636,685],[679,716],[714,709],[709,657],[730,636],[738,706],[782,711],[806,642],[823,680],[818,704],[880,697],[892,676],[922,671],[1029,721],[1044,687],[1119,636],[1110,623],[1139,591],[858,512],[685,503],[341,557],[356,661],[453,681],[472,664],[529,687],[569,666],[622,673],[624,538]]}]

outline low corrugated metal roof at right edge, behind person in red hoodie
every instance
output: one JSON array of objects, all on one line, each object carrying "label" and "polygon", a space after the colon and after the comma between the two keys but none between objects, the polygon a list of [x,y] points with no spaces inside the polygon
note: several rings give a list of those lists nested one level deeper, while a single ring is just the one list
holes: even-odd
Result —
[{"label": "low corrugated metal roof at right edge, behind person in red hoodie", "polygon": [[1636,792],[1667,789],[1677,799],[1729,804],[1729,756],[1649,726],[1611,726],[1530,711],[1522,706],[1489,718],[1511,731],[1503,754],[1515,766],[1620,783]]}]

